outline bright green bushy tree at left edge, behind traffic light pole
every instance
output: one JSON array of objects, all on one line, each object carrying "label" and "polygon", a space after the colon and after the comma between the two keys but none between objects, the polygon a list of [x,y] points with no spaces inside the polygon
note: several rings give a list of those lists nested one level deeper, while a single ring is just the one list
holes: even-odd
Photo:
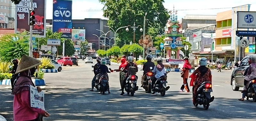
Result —
[{"label": "bright green bushy tree at left edge, behind traffic light pole", "polygon": [[[28,36],[24,34],[6,34],[0,38],[0,59],[2,61],[12,61],[14,58],[21,58],[28,55],[29,43]],[[18,40],[13,39],[18,38]]]}]

